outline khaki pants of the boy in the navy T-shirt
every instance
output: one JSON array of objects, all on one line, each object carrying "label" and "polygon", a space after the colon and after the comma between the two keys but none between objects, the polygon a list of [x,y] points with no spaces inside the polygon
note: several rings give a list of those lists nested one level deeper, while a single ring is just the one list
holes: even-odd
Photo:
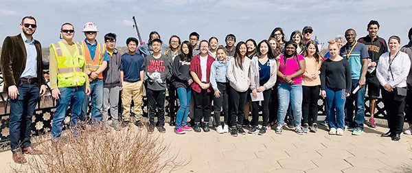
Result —
[{"label": "khaki pants of the boy in the navy T-shirt", "polygon": [[135,113],[136,121],[141,120],[143,110],[141,104],[143,103],[143,82],[123,82],[122,103],[123,103],[123,120],[130,121],[130,104],[135,103],[132,109]]}]

